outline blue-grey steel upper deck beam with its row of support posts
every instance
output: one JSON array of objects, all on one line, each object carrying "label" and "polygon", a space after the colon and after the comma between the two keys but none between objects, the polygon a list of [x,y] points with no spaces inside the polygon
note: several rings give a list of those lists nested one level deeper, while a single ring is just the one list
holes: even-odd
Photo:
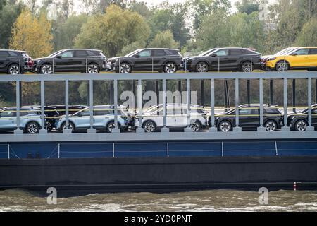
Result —
[{"label": "blue-grey steel upper deck beam with its row of support posts", "polygon": [[[41,114],[42,114],[42,125],[45,124],[45,114],[44,114],[44,105],[45,105],[45,94],[44,94],[44,82],[46,81],[60,81],[65,83],[65,105],[66,105],[66,129],[63,133],[71,133],[69,128],[70,121],[69,121],[69,82],[70,81],[89,81],[89,107],[90,107],[90,129],[89,133],[95,133],[94,130],[94,81],[112,81],[113,82],[113,102],[114,102],[114,121],[116,129],[113,129],[113,133],[120,133],[120,129],[118,127],[118,81],[137,81],[137,109],[138,109],[138,120],[139,125],[142,125],[142,111],[143,111],[143,87],[142,81],[162,81],[163,88],[163,102],[162,105],[166,106],[168,103],[166,102],[166,81],[168,80],[183,80],[186,81],[186,95],[187,95],[187,119],[190,117],[190,93],[191,93],[191,81],[194,80],[204,80],[210,81],[211,84],[211,129],[209,131],[216,132],[217,129],[215,127],[215,81],[216,80],[234,80],[235,81],[235,107],[236,107],[236,127],[234,131],[241,131],[239,127],[240,121],[240,113],[238,107],[240,106],[239,94],[240,94],[240,80],[257,80],[259,81],[259,112],[260,112],[260,127],[258,131],[265,131],[263,128],[263,80],[274,80],[274,79],[281,79],[283,80],[283,98],[284,98],[284,114],[287,115],[287,81],[292,79],[306,79],[308,90],[308,131],[313,131],[312,126],[312,113],[311,113],[311,105],[312,105],[312,79],[317,79],[317,72],[268,72],[268,73],[133,73],[133,74],[101,74],[101,75],[91,75],[91,74],[58,74],[58,75],[18,75],[18,76],[0,76],[0,82],[16,82],[16,118],[17,118],[17,125],[20,124],[20,92],[21,92],[21,83],[22,82],[39,82],[40,83],[40,92],[41,92]],[[166,107],[163,108],[163,129],[161,132],[168,132],[168,128],[166,126],[166,118],[167,112]],[[187,121],[188,122],[188,121]],[[290,127],[287,127],[287,117],[284,117],[284,125],[282,127],[282,131],[290,131]],[[187,123],[186,132],[191,131],[190,124]],[[40,133],[47,133],[45,129],[42,129]],[[144,133],[144,129],[138,128],[137,133]],[[15,134],[22,134],[20,129],[15,131]],[[129,136],[129,135],[127,135]]]}]

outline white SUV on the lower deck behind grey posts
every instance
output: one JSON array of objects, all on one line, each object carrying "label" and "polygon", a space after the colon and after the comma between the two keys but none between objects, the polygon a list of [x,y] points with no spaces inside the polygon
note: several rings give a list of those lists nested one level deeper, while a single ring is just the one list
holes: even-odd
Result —
[{"label": "white SUV on the lower deck behind grey posts", "polygon": [[[153,133],[164,126],[163,105],[157,105],[157,107],[151,107],[151,109],[142,114],[142,128],[146,133]],[[208,128],[208,117],[203,107],[190,105],[189,119],[190,127],[194,132]],[[135,127],[139,127],[138,117],[135,119]],[[166,127],[187,127],[187,105],[166,105]]]}]

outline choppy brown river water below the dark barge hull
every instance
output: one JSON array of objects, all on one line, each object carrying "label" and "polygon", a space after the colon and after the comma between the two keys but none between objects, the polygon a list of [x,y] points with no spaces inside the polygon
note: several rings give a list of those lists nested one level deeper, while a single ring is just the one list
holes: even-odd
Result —
[{"label": "choppy brown river water below the dark barge hull", "polygon": [[57,198],[56,205],[47,198],[27,191],[0,191],[0,211],[317,211],[317,191],[273,191],[268,205],[259,204],[252,191],[213,190],[173,194],[91,194]]}]

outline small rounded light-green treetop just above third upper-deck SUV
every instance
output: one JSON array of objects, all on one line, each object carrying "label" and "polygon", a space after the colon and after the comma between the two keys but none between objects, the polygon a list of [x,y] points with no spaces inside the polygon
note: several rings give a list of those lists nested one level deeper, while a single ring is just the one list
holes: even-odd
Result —
[{"label": "small rounded light-green treetop just above third upper-deck SUV", "polygon": [[166,30],[157,33],[154,40],[149,43],[149,47],[178,49],[180,44],[174,40],[172,32]]}]

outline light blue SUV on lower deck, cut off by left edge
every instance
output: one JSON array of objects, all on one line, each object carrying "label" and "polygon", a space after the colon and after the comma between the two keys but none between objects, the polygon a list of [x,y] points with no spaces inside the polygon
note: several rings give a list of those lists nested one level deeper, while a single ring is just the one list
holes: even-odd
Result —
[{"label": "light blue SUV on lower deck, cut off by left edge", "polygon": [[[0,109],[0,131],[14,131],[17,126],[16,107]],[[41,113],[32,108],[20,109],[20,126],[25,133],[36,134],[42,128]]]}]

